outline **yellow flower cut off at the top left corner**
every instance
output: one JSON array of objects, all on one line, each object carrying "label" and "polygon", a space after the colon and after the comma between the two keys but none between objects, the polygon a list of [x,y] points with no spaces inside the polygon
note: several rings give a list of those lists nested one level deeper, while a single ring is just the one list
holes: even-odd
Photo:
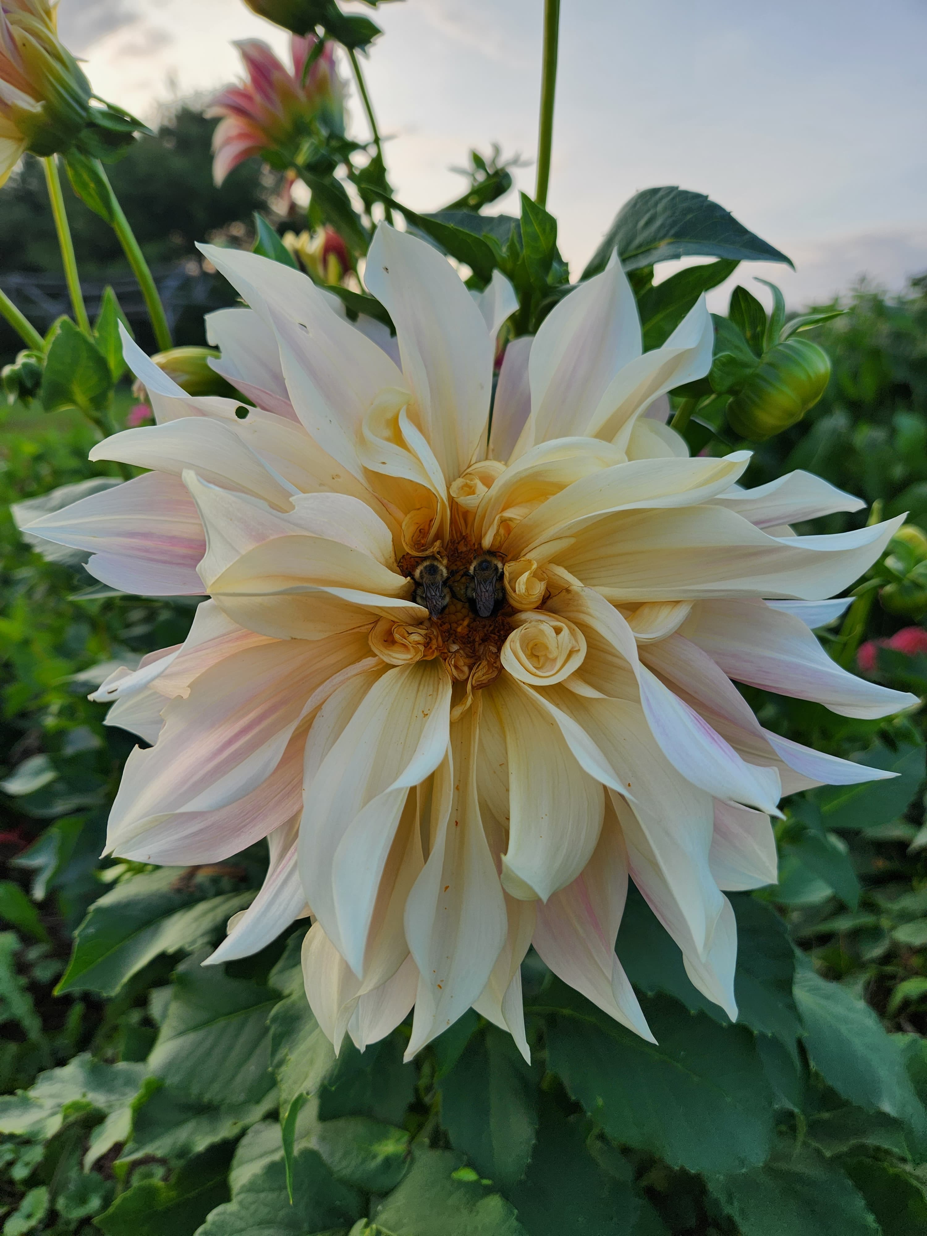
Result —
[{"label": "yellow flower cut off at the top left corner", "polygon": [[48,0],[0,4],[0,184],[20,157],[67,150],[89,116],[90,84],[58,40]]}]

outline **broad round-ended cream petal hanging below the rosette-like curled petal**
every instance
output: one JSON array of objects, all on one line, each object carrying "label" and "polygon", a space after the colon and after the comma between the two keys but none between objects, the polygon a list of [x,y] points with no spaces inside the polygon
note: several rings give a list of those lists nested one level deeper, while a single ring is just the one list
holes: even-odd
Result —
[{"label": "broad round-ended cream petal hanging below the rosette-like curled petal", "polygon": [[[552,688],[555,690],[555,688]],[[602,828],[602,786],[577,763],[533,693],[503,675],[487,695],[506,733],[509,842],[502,883],[529,901],[575,880]]]}]

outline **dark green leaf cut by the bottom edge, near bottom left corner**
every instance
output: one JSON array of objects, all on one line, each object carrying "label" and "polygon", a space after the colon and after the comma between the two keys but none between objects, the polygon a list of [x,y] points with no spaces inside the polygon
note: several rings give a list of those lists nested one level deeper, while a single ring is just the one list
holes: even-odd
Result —
[{"label": "dark green leaf cut by the bottom edge, near bottom left corner", "polygon": [[140,1180],[94,1220],[106,1236],[193,1236],[229,1196],[227,1146],[188,1159],[169,1182]]}]

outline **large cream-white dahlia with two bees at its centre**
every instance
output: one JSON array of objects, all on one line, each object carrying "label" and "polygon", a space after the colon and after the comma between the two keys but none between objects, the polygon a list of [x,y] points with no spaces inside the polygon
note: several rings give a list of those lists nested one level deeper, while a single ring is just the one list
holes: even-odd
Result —
[{"label": "large cream-white dahlia with two bees at its centre", "polygon": [[849,717],[913,703],[810,629],[900,520],[796,536],[861,503],[803,472],[742,489],[743,451],[688,459],[651,405],[707,372],[711,318],[641,355],[614,261],[509,344],[492,400],[498,274],[472,295],[382,226],[366,282],[392,339],[297,271],[204,252],[250,305],[209,330],[257,407],[192,398],[126,342],[158,423],[91,457],[151,471],[30,527],[122,590],[210,597],[95,696],[153,744],[109,850],[198,864],[266,837],[211,960],[311,915],[307,994],[336,1044],[414,1005],[413,1054],[473,1006],[527,1053],[530,944],[650,1037],[614,955],[628,876],[734,1017],[722,890],[775,881],[781,795],[887,774],[769,733],[730,680]]}]

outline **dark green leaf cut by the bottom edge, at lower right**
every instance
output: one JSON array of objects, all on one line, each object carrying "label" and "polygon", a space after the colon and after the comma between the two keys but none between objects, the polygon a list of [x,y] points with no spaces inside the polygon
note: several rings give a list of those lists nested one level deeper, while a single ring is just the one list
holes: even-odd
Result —
[{"label": "dark green leaf cut by the bottom edge, at lower right", "polygon": [[787,1162],[724,1179],[708,1188],[743,1236],[879,1236],[879,1226],[844,1173],[803,1151]]}]

